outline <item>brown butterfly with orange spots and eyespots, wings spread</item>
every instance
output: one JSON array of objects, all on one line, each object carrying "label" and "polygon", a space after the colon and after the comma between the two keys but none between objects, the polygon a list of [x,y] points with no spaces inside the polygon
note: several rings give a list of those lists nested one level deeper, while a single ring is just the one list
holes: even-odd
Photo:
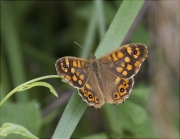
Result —
[{"label": "brown butterfly with orange spots and eyespots, wings spread", "polygon": [[56,61],[57,74],[78,89],[89,106],[100,108],[105,100],[123,103],[134,85],[133,77],[147,58],[144,44],[126,44],[101,56],[91,54],[89,60],[65,56]]}]

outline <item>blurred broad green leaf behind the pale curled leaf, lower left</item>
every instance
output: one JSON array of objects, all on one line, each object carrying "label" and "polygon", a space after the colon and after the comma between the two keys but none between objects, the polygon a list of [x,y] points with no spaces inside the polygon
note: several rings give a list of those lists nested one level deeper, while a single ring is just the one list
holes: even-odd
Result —
[{"label": "blurred broad green leaf behind the pale curled leaf, lower left", "polygon": [[[7,102],[1,107],[1,125],[3,123],[14,123],[26,127],[31,133],[37,134],[40,130],[40,110],[37,102],[10,103]],[[12,138],[14,135],[8,135]]]}]

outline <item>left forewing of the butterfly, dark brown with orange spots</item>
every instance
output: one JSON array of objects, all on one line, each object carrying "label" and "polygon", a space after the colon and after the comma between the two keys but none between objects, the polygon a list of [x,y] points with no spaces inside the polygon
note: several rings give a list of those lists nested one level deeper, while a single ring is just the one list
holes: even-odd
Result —
[{"label": "left forewing of the butterfly, dark brown with orange spots", "polygon": [[88,78],[90,63],[88,60],[76,57],[62,57],[55,64],[57,74],[63,76],[69,84],[82,88]]}]

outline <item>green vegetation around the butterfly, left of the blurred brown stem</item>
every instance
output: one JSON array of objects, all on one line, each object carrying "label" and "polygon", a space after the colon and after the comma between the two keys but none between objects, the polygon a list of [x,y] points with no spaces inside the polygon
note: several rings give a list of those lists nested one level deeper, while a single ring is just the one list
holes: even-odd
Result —
[{"label": "green vegetation around the butterfly, left of the blurred brown stem", "polygon": [[97,110],[61,81],[54,66],[62,56],[88,59],[88,51],[100,57],[124,43],[149,48],[143,17],[135,24],[143,4],[143,0],[2,1],[0,136],[156,138],[148,109],[151,59],[143,63],[124,104],[105,103]]}]

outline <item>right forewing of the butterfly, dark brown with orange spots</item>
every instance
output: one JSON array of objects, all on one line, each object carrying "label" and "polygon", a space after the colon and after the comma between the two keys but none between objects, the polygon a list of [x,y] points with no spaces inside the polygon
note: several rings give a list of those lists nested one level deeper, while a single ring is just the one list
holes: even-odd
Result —
[{"label": "right forewing of the butterfly, dark brown with orange spots", "polygon": [[101,66],[121,78],[132,78],[147,57],[144,44],[127,44],[98,59]]}]

